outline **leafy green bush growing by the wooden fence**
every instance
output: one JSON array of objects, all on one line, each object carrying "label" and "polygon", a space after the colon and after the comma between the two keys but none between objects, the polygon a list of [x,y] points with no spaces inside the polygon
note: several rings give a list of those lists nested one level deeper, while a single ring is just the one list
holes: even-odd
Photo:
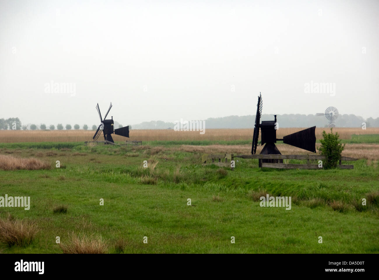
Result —
[{"label": "leafy green bush growing by the wooden fence", "polygon": [[345,148],[345,144],[341,143],[338,132],[333,134],[333,128],[330,128],[330,133],[323,131],[323,138],[321,139],[321,146],[318,148],[320,154],[325,156],[323,168],[330,169],[336,168],[338,160],[341,159],[341,153]]}]

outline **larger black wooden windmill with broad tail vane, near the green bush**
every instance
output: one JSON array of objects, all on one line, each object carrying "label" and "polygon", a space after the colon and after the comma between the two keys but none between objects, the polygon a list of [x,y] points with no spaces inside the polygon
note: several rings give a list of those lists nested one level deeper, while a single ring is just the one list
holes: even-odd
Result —
[{"label": "larger black wooden windmill with broad tail vane, near the green bush", "polygon": [[[273,121],[262,121],[260,123],[260,117],[262,115],[262,96],[258,96],[257,104],[257,114],[255,115],[254,133],[253,133],[253,143],[251,147],[251,154],[255,154],[258,146],[259,129],[261,130],[261,145],[266,145],[263,147],[260,154],[281,154],[278,148],[275,146],[276,141],[283,141],[283,143],[295,146],[307,151],[316,153],[316,126],[304,129],[299,132],[284,136],[283,139],[276,138],[276,115]],[[272,162],[272,163],[283,163],[282,159],[263,159],[262,162]]]}]

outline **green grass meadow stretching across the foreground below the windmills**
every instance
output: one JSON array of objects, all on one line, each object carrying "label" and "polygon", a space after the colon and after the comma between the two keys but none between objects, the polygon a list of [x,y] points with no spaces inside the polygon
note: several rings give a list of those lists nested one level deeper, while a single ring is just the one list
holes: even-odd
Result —
[{"label": "green grass meadow stretching across the foreground below the windmills", "polygon": [[[0,196],[31,201],[30,210],[0,208],[0,221],[38,228],[29,245],[3,241],[0,251],[62,253],[81,243],[108,253],[378,253],[379,141],[367,139],[377,136],[346,139],[355,142],[345,155],[359,156],[345,162],[353,170],[260,169],[249,159],[238,159],[234,171],[201,165],[204,153],[249,154],[250,142],[239,139],[186,145],[191,140],[158,137],[138,147],[1,143],[0,155],[48,167],[0,170]],[[306,153],[277,146],[283,154]],[[291,210],[260,207],[266,193],[291,196]]]}]

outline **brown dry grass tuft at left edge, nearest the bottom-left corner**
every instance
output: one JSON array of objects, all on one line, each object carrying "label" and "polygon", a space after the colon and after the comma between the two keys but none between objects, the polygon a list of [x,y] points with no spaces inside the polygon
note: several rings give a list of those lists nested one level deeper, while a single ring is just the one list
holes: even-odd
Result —
[{"label": "brown dry grass tuft at left edge, nearest the bottom-left corner", "polygon": [[0,240],[9,247],[30,245],[37,232],[35,223],[15,219],[0,220]]}]

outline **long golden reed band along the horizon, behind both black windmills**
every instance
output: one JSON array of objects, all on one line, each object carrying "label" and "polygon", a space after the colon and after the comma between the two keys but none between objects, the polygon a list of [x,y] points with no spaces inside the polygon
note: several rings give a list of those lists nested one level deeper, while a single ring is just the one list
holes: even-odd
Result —
[{"label": "long golden reed band along the horizon, behind both black windmills", "polygon": [[[276,132],[277,138],[301,131],[303,128],[280,128]],[[329,132],[329,128],[316,127],[316,139],[321,139],[323,131]],[[333,132],[338,132],[341,139],[351,139],[352,134],[379,134],[379,127],[368,127],[366,130],[360,127],[335,127]],[[54,131],[16,131],[0,130],[0,143],[17,142],[80,142],[91,141],[94,135],[92,130],[54,130]],[[199,131],[174,131],[168,129],[132,129],[130,138],[112,135],[114,141],[142,140],[142,141],[178,141],[178,140],[251,140],[252,129],[205,129],[205,134]],[[98,140],[102,140],[100,136]]]}]

